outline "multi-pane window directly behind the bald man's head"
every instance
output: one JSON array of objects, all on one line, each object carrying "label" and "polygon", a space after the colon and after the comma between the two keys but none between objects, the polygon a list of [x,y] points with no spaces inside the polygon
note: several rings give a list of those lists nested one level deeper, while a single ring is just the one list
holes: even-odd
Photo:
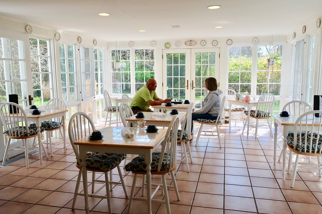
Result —
[{"label": "multi-pane window directly behind the bald man's head", "polygon": [[154,78],[154,49],[135,49],[134,67],[135,91],[137,91],[149,78]]}]

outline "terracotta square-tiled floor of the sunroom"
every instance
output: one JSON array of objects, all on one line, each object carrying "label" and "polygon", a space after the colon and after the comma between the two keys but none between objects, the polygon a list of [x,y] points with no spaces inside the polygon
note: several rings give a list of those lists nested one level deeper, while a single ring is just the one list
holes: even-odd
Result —
[{"label": "terracotta square-tiled floor of the sunroom", "polygon": [[[103,124],[97,124],[97,128]],[[197,133],[197,123],[194,128]],[[273,165],[273,138],[267,128],[259,129],[257,139],[253,137],[254,130],[247,139],[242,127],[233,124],[231,133],[228,124],[221,126],[221,132],[223,148],[214,137],[201,138],[196,145],[195,135],[190,173],[181,164],[175,175],[181,200],[177,201],[175,192],[169,190],[173,213],[322,213],[322,178],[314,170],[299,169],[294,188],[290,187],[291,174],[283,182],[282,164]],[[278,136],[279,154],[280,129]],[[71,145],[68,142],[67,153],[58,147],[53,157],[44,158],[42,165],[35,154],[30,156],[29,169],[25,159],[0,167],[0,213],[85,213],[81,196],[76,209],[71,210],[78,174]],[[117,170],[113,173],[116,179]],[[123,176],[129,194],[133,176],[125,170]],[[137,181],[136,191],[139,190]],[[111,197],[112,212],[127,213],[128,198],[120,186],[113,188]],[[162,198],[160,193],[156,197]],[[89,198],[89,204],[90,213],[108,212],[106,199]],[[146,210],[145,202],[134,201],[131,213]],[[152,213],[166,213],[165,205],[152,203]]]}]

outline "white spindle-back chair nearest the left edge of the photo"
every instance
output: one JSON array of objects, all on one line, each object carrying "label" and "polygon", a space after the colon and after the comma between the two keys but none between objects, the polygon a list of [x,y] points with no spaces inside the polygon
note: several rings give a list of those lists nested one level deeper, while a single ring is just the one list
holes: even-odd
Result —
[{"label": "white spindle-back chair nearest the left edge of the photo", "polygon": [[[38,142],[35,141],[36,137],[38,136],[38,131],[36,126],[28,125],[27,115],[21,106],[13,102],[5,102],[0,106],[0,117],[1,122],[4,126],[4,134],[6,140],[5,155],[3,158],[2,166],[5,166],[6,159],[9,160],[8,152],[11,150],[19,150],[24,152],[27,168],[29,168],[28,154],[38,150],[37,146],[42,146],[43,151],[48,158],[43,144],[38,145],[37,143],[33,143],[32,147],[28,147],[27,139],[34,138],[34,142]],[[43,131],[45,131],[45,129],[41,127],[40,132]],[[10,143],[12,143],[12,141],[17,141],[14,147],[10,147]]]}]

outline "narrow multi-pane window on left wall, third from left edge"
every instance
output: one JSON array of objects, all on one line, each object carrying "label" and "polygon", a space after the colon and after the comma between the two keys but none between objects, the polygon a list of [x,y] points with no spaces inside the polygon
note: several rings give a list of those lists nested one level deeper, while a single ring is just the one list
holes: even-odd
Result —
[{"label": "narrow multi-pane window on left wall, third from left edge", "polygon": [[75,46],[59,44],[62,97],[64,101],[75,100],[77,97],[77,74],[76,74],[76,54]]}]

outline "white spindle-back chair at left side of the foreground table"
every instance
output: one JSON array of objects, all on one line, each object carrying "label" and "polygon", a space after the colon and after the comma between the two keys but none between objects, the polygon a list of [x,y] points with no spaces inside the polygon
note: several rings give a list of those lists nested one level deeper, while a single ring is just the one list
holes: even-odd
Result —
[{"label": "white spindle-back chair at left side of the foreground table", "polygon": [[[80,159],[78,146],[75,145],[74,142],[83,137],[90,135],[93,130],[95,130],[94,123],[87,114],[83,112],[77,112],[73,116],[71,116],[71,119],[68,125],[68,134],[69,134],[69,139],[71,141],[71,146],[76,156],[76,167],[79,169],[73,203],[71,206],[72,209],[74,209],[75,207],[77,195],[84,196],[84,193],[79,192],[79,186],[80,186],[81,177],[82,177],[82,165],[81,165],[82,160]],[[110,193],[109,193],[109,191],[113,190],[112,184],[121,184],[123,187],[125,196],[127,196],[127,192],[125,189],[125,184],[122,176],[122,171],[119,167],[119,164],[121,163],[122,160],[125,159],[125,157],[126,156],[124,154],[87,152],[87,158],[85,160],[86,170],[92,172],[92,194],[88,194],[88,196],[95,197],[95,198],[106,198],[108,207],[109,207],[109,213],[112,213]],[[118,175],[121,182],[112,181],[112,170],[114,168],[118,169]],[[95,178],[96,172],[104,173],[105,180],[96,179]],[[109,179],[108,173],[110,175],[110,179]],[[94,192],[95,182],[103,183],[104,185],[102,185],[98,190]],[[98,195],[97,193],[104,187],[106,188],[106,196]]]}]

